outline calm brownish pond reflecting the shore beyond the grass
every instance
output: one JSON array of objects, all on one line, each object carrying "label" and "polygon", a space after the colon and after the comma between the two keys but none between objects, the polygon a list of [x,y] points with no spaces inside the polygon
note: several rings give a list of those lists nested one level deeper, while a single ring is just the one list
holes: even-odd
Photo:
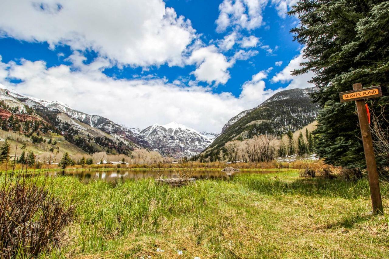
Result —
[{"label": "calm brownish pond reflecting the shore beyond the grass", "polygon": [[[195,170],[192,177],[195,179],[230,179],[234,175],[240,173],[276,173],[280,170],[249,170],[249,171],[238,171],[234,173],[226,173],[221,170]],[[128,179],[145,179],[145,178],[158,178],[158,170],[144,169],[144,170],[65,170],[62,171],[49,171],[50,177],[56,176],[69,176],[77,177],[81,182],[89,183],[92,181],[102,180],[112,184],[117,182],[124,182]],[[161,178],[178,178],[178,175],[173,170],[165,170],[161,174]]]}]

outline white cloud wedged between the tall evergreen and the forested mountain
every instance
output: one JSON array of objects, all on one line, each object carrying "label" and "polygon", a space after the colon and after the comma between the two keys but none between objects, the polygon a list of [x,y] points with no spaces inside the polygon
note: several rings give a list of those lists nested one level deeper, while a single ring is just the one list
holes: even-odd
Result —
[{"label": "white cloud wedged between the tall evergreen and the forested mountain", "polygon": [[303,59],[302,56],[303,50],[304,49],[301,49],[300,54],[295,58],[293,58],[281,72],[275,74],[272,77],[271,82],[273,83],[290,82],[289,85],[287,86],[288,89],[312,87],[313,85],[308,83],[308,80],[311,80],[312,77],[314,76],[314,73],[312,71],[309,71],[308,73],[305,73],[303,75],[298,75],[298,76],[292,75],[292,71],[297,68],[300,68],[300,63],[305,61],[305,59]]}]

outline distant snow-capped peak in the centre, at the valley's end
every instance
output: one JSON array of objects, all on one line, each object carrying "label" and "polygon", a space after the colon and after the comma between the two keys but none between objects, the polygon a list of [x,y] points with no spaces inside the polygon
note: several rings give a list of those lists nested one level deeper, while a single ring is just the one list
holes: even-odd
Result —
[{"label": "distant snow-capped peak in the centre, at the valley's end", "polygon": [[153,150],[176,158],[194,156],[208,147],[214,139],[177,122],[154,124],[139,134],[150,143]]}]

